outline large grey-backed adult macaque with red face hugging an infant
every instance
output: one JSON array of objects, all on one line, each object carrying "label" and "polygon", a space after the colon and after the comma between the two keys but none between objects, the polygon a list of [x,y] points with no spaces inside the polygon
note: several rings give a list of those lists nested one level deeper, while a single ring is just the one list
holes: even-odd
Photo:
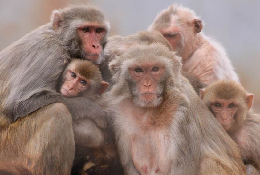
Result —
[{"label": "large grey-backed adult macaque with red face hugging an infant", "polygon": [[0,52],[0,171],[70,174],[72,119],[105,127],[106,112],[90,99],[63,97],[59,80],[73,57],[101,62],[109,28],[100,10],[69,6]]}]

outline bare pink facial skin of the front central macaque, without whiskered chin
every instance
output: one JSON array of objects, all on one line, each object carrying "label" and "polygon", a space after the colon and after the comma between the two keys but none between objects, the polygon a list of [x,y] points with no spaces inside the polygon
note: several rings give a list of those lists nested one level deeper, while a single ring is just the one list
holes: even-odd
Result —
[{"label": "bare pink facial skin of the front central macaque, without whiskered chin", "polygon": [[128,71],[137,82],[139,98],[144,101],[156,100],[158,82],[165,68],[160,65],[145,64],[133,66]]}]

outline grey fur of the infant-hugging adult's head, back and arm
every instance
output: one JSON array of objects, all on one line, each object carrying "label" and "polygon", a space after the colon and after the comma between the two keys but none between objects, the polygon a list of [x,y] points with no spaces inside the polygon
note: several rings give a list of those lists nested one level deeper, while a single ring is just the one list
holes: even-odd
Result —
[{"label": "grey fur of the infant-hugging adult's head, back and arm", "polygon": [[104,126],[102,119],[106,114],[97,104],[83,97],[63,97],[58,93],[58,82],[67,66],[64,60],[70,61],[76,56],[87,59],[75,37],[75,21],[99,19],[106,23],[108,30],[109,23],[92,7],[71,6],[54,11],[58,12],[62,16],[59,31],[55,31],[50,22],[0,52],[0,110],[14,122],[45,105],[62,102],[73,119],[88,116]]}]

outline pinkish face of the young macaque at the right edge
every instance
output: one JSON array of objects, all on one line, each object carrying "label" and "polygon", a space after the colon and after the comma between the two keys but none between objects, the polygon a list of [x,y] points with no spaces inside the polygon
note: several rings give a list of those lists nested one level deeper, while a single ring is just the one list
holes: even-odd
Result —
[{"label": "pinkish face of the young macaque at the right edge", "polygon": [[211,103],[210,110],[224,129],[228,130],[235,122],[234,115],[238,110],[238,104],[230,100],[216,100]]}]

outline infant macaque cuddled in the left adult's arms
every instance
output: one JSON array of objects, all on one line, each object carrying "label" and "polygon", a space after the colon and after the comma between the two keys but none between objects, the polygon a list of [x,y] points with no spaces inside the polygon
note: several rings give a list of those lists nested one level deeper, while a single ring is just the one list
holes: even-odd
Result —
[{"label": "infant macaque cuddled in the left adult's arms", "polygon": [[[99,68],[88,60],[74,59],[68,64],[62,76],[60,93],[65,97],[81,96],[98,104],[102,103],[101,94],[109,84],[102,80]],[[75,144],[98,147],[104,140],[103,132],[90,119],[73,121]]]}]

